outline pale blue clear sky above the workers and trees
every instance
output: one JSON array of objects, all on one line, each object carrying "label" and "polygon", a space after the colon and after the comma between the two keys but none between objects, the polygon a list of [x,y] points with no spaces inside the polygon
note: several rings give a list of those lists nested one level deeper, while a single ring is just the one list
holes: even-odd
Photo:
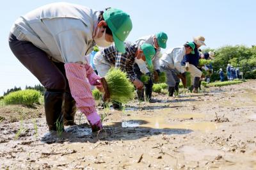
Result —
[{"label": "pale blue clear sky above the workers and trees", "polygon": [[[8,34],[13,22],[39,6],[58,1],[3,1],[0,7],[0,95],[8,88],[38,84],[38,80],[13,56],[8,46]],[[115,7],[131,15],[133,29],[128,40],[164,31],[167,48],[191,41],[193,36],[205,36],[207,47],[223,45],[255,45],[256,1],[253,0],[99,0],[65,1],[95,10]]]}]

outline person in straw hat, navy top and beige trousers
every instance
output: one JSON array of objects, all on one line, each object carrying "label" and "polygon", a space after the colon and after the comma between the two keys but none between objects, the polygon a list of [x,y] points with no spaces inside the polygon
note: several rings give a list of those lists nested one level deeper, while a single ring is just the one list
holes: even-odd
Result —
[{"label": "person in straw hat, navy top and beige trousers", "polygon": [[191,73],[191,84],[193,84],[193,93],[198,93],[199,81],[202,76],[202,72],[197,68],[200,55],[198,49],[205,45],[204,36],[196,36],[193,38],[193,43],[195,44],[195,52],[186,55],[182,60],[182,66],[186,68],[186,71]]}]

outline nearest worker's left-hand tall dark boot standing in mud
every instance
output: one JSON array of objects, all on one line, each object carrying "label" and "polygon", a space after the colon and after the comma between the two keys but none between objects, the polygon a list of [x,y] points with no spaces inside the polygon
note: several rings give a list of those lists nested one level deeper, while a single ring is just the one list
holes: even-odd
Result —
[{"label": "nearest worker's left-hand tall dark boot standing in mud", "polygon": [[63,98],[63,92],[45,91],[44,109],[49,131],[64,131],[62,111]]}]

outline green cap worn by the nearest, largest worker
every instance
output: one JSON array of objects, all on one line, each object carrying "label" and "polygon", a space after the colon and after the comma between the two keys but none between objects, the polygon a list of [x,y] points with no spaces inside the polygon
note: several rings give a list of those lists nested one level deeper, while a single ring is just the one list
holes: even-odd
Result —
[{"label": "green cap worn by the nearest, largest worker", "polygon": [[103,13],[103,18],[112,31],[116,49],[124,53],[124,41],[132,30],[130,16],[122,10],[109,8]]}]

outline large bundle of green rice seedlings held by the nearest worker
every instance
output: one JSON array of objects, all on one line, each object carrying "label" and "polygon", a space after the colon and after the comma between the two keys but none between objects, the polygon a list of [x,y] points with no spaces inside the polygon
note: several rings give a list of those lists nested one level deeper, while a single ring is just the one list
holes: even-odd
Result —
[{"label": "large bundle of green rice seedlings held by the nearest worker", "polygon": [[125,104],[134,98],[134,86],[127,78],[127,73],[111,68],[105,79],[112,101]]}]

